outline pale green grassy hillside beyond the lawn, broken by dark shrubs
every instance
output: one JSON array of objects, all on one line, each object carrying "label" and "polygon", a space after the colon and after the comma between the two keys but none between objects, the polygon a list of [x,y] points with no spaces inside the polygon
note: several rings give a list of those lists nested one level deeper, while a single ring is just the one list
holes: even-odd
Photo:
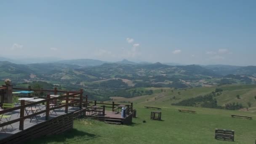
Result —
[{"label": "pale green grassy hillside beyond the lawn, broken by dark shrubs", "polygon": [[[239,103],[244,108],[248,107],[248,112],[256,112],[256,85],[223,85],[221,87],[223,91],[219,96],[214,96],[217,105],[225,107],[225,104]],[[143,95],[133,98],[123,97],[111,97],[111,99],[117,102],[134,102],[136,104],[154,105],[158,107],[169,107],[171,104],[176,104],[186,99],[196,98],[198,96],[204,96],[206,94],[215,91],[216,87],[211,88],[146,88],[153,90],[152,95]],[[237,95],[240,95],[240,99],[237,99]],[[248,102],[251,103],[251,107],[248,106]],[[196,105],[195,107],[200,107]]]}]

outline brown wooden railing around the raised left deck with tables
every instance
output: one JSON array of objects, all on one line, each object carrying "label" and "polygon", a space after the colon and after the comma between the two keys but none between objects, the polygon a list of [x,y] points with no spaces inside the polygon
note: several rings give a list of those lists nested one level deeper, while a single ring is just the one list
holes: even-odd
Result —
[{"label": "brown wooden railing around the raised left deck with tables", "polygon": [[[27,118],[30,118],[30,117],[34,117],[36,115],[40,115],[42,113],[45,113],[45,120],[48,120],[49,119],[49,115],[50,115],[50,111],[51,110],[54,110],[54,109],[59,109],[61,107],[65,107],[65,113],[68,113],[68,107],[70,105],[73,105],[73,104],[79,104],[79,108],[82,109],[82,105],[83,105],[83,89],[81,89],[80,91],[58,91],[57,88],[54,88],[54,90],[43,90],[43,89],[26,89],[26,88],[13,88],[13,89],[16,89],[16,90],[29,90],[29,91],[46,91],[46,92],[54,92],[54,94],[57,94],[57,92],[65,92],[66,95],[65,96],[59,96],[59,97],[56,97],[56,98],[50,98],[50,94],[47,94],[47,99],[45,100],[42,100],[42,101],[37,101],[37,102],[32,102],[30,104],[25,104],[25,101],[24,100],[21,100],[21,106],[18,106],[18,107],[13,107],[13,108],[10,108],[10,109],[4,109],[2,111],[0,111],[0,115],[2,114],[5,114],[7,112],[13,112],[15,110],[18,110],[20,109],[20,117],[17,118],[17,119],[14,119],[14,120],[10,120],[8,122],[5,122],[5,123],[1,123],[0,124],[0,127],[4,127],[6,125],[10,125],[12,123],[16,123],[16,122],[19,122],[19,130],[24,130],[24,120],[27,119]],[[69,94],[69,93],[72,93],[72,94]],[[72,102],[69,102],[69,98],[72,97],[79,97],[79,99],[75,99],[74,101]],[[50,101],[53,101],[53,100],[63,100],[65,99],[66,100],[66,103],[65,104],[61,104],[59,106],[56,106],[56,107],[51,107],[50,108]],[[36,104],[42,104],[42,103],[45,103],[46,102],[46,109],[45,110],[41,110],[40,112],[35,112],[33,114],[30,114],[30,115],[24,115],[24,111],[25,111],[25,108],[26,107],[32,107],[32,106],[35,106]]]}]

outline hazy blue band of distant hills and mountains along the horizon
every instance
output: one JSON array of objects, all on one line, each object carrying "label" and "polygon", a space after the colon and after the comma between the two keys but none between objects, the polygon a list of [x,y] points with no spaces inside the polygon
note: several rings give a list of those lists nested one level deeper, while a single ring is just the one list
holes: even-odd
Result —
[{"label": "hazy blue band of distant hills and mountains along the horizon", "polygon": [[[236,75],[239,76],[236,76]],[[227,76],[226,76],[227,75]],[[77,59],[53,63],[14,64],[0,61],[0,79],[14,81],[44,80],[84,82],[121,78],[130,85],[179,87],[217,83],[255,83],[256,66],[137,64],[123,60],[116,63]],[[93,84],[92,84],[93,85]],[[107,85],[107,84],[106,84]]]}]

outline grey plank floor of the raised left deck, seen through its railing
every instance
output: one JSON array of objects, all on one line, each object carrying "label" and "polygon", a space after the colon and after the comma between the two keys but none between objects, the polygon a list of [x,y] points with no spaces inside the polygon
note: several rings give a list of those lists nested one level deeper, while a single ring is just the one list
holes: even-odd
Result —
[{"label": "grey plank floor of the raised left deck, seen through its railing", "polygon": [[[41,105],[41,106],[37,106],[37,108],[38,107],[40,107],[41,110],[45,110],[45,106]],[[77,110],[80,110],[80,109],[77,108],[77,107],[69,107],[68,113],[75,112]],[[16,110],[16,111],[13,111],[13,112],[11,112],[9,114],[5,114],[5,115],[11,115],[11,120],[14,120],[14,119],[19,118],[19,111],[20,110]],[[65,108],[56,109],[55,111],[56,111],[56,113],[53,112],[52,115],[49,116],[49,120],[51,120],[54,117],[57,117],[59,115],[64,115],[65,114]],[[37,117],[37,120],[35,119],[35,117],[33,117],[31,122],[30,122],[30,118],[24,120],[24,130],[26,130],[27,128],[30,128],[30,127],[32,127],[34,125],[37,125],[39,123],[42,123],[42,122],[46,121],[45,120],[45,113],[37,115],[36,117]],[[4,122],[7,122],[7,121],[6,121],[5,118],[2,118],[2,122],[1,123],[4,123]],[[13,128],[11,127],[11,125],[13,126]],[[4,131],[5,132],[2,130],[2,128],[0,128],[0,140],[6,138],[8,136],[11,136],[11,135],[13,135],[15,133],[20,132],[20,130],[19,130],[19,122],[13,123],[11,125],[7,125],[7,127],[6,126],[4,127]]]}]

